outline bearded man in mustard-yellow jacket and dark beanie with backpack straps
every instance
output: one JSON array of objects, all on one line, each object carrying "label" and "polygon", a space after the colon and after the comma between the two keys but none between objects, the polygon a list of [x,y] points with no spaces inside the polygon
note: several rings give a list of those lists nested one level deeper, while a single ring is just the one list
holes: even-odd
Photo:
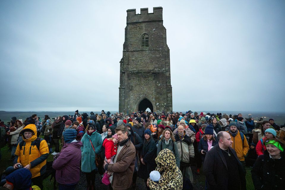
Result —
[{"label": "bearded man in mustard-yellow jacket and dark beanie with backpack straps", "polygon": [[230,134],[233,142],[232,148],[237,153],[238,159],[245,165],[244,156],[246,156],[249,150],[246,136],[238,131],[238,125],[235,121],[230,122],[229,131],[227,132]]}]

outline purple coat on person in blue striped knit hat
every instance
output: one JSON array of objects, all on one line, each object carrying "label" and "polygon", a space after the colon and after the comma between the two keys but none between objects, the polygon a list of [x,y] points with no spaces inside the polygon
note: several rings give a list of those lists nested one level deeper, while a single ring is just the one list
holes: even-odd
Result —
[{"label": "purple coat on person in blue striped knit hat", "polygon": [[75,184],[80,178],[82,142],[65,143],[58,158],[53,162],[56,181],[60,184]]}]

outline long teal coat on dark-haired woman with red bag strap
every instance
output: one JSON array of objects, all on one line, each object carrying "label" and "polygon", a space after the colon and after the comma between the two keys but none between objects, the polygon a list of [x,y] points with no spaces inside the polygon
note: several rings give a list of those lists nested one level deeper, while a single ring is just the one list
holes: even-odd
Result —
[{"label": "long teal coat on dark-haired woman with red bag strap", "polygon": [[[91,142],[95,149],[95,152],[92,148]],[[101,151],[102,147],[102,138],[99,133],[94,131],[91,136],[85,133],[81,139],[83,146],[81,147],[81,171],[90,173],[93,170],[96,170],[95,163],[95,154],[98,154]]]}]

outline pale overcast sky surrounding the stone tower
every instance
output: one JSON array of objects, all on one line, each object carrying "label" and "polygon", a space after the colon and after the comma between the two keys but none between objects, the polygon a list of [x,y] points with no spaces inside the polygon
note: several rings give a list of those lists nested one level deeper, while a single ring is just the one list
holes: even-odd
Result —
[{"label": "pale overcast sky surrounding the stone tower", "polygon": [[0,1],[0,110],[118,110],[126,10],[146,7],[174,111],[284,111],[285,1],[189,0]]}]

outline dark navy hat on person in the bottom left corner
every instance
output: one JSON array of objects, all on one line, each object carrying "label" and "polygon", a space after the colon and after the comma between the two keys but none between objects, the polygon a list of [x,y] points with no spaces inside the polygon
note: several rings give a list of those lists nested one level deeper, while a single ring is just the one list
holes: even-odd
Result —
[{"label": "dark navy hat on person in the bottom left corner", "polygon": [[6,180],[13,183],[14,189],[30,189],[32,174],[26,168],[15,170],[6,176]]}]

